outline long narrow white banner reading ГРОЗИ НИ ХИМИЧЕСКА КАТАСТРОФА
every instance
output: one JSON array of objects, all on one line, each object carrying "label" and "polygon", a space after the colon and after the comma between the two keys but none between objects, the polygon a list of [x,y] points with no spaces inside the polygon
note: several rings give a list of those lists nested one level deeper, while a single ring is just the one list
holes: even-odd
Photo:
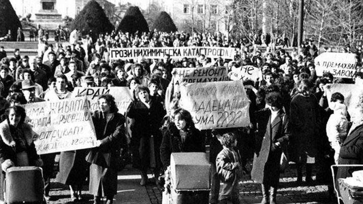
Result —
[{"label": "long narrow white banner reading \u0413\u0420\u041e\u0417\u0418 \u041d\u0418 \u0425\u0418\u041c\u0418\u0427\u0415\u0421\u041a\u0410 \u041a\u0410\u0422\u0410\u0421\u0422\u0420\u041e\u0424\u0410", "polygon": [[111,60],[128,60],[135,58],[162,59],[165,54],[170,58],[196,58],[205,55],[210,58],[234,59],[235,48],[231,47],[133,47],[111,48]]}]

